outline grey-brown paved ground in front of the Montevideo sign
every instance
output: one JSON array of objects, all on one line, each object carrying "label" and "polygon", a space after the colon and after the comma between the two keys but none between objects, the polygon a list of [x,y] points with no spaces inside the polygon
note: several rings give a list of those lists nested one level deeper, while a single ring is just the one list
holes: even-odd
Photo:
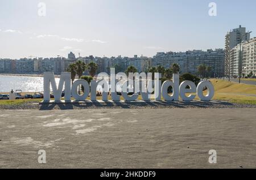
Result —
[{"label": "grey-brown paved ground in front of the Montevideo sign", "polygon": [[255,168],[255,129],[255,108],[2,110],[0,168]]}]

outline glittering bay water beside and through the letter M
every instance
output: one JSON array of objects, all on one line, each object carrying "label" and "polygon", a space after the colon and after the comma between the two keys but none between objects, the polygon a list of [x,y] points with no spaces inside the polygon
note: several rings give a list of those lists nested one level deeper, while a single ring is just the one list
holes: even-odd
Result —
[{"label": "glittering bay water beside and through the letter M", "polygon": [[[59,84],[59,78],[55,78]],[[0,92],[10,92],[11,89],[21,89],[22,92],[43,92],[43,77],[32,76],[2,76],[0,75]]]}]

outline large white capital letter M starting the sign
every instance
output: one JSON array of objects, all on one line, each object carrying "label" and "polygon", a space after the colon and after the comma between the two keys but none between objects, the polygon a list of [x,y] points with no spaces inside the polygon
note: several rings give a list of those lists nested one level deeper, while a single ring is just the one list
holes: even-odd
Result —
[{"label": "large white capital letter M starting the sign", "polygon": [[50,100],[50,84],[55,101],[60,101],[61,92],[65,82],[65,101],[71,101],[71,72],[61,72],[60,82],[57,88],[53,72],[44,72],[44,102]]}]

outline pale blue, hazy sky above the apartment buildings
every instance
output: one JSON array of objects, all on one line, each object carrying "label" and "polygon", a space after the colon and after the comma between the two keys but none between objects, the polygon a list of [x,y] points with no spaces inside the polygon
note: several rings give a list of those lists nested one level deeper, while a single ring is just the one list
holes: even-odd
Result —
[{"label": "pale blue, hazy sky above the apartment buildings", "polygon": [[239,25],[256,36],[255,7],[255,0],[0,0],[0,58],[224,48],[226,32]]}]

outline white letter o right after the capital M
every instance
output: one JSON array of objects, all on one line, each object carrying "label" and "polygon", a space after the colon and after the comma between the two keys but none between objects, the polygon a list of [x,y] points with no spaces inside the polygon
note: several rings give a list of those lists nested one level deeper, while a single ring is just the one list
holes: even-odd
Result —
[{"label": "white letter o right after the capital M", "polygon": [[[84,95],[82,95],[82,96],[80,96],[77,93],[77,87],[80,84],[84,87]],[[90,86],[89,86],[88,82],[86,82],[86,80],[84,80],[84,79],[76,80],[72,85],[71,93],[72,93],[72,96],[76,99],[76,101],[84,101],[90,93]]]}]

